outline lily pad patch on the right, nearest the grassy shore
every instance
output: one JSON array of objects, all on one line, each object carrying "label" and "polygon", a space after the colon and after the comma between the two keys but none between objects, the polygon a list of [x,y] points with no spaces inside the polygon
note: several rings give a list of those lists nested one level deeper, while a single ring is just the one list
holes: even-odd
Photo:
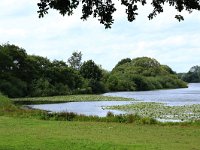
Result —
[{"label": "lily pad patch on the right, nearest the grassy shore", "polygon": [[180,121],[200,120],[200,105],[167,106],[163,103],[137,102],[129,105],[108,106],[106,109],[127,111],[142,117]]}]

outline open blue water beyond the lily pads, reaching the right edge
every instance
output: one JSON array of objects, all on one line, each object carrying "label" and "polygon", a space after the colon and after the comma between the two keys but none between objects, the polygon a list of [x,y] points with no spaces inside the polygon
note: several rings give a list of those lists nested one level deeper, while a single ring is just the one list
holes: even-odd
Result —
[{"label": "open blue water beyond the lily pads, reaching the right edge", "polygon": [[106,96],[134,98],[144,102],[160,102],[170,106],[200,104],[200,83],[190,83],[188,88],[141,92],[105,93]]}]

